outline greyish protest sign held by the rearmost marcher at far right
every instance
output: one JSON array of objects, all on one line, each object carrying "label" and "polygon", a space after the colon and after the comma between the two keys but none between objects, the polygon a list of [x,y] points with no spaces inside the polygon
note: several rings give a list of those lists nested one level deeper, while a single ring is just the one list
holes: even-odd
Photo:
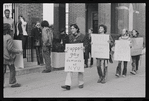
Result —
[{"label": "greyish protest sign held by the rearmost marcher at far right", "polygon": [[143,38],[132,38],[131,56],[139,55],[142,53]]}]

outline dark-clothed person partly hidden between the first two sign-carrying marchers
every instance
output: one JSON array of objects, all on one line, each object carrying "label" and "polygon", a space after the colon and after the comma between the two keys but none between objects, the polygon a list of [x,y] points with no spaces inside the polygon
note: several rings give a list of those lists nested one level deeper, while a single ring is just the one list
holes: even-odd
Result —
[{"label": "dark-clothed person partly hidden between the first two sign-carrying marchers", "polygon": [[[88,59],[89,59],[89,54],[91,56],[91,34],[93,33],[93,29],[89,29],[89,33],[85,35],[84,38],[84,47],[85,47],[85,54],[84,54],[84,59],[85,59],[85,68],[88,67]],[[90,61],[90,66],[93,65],[93,58],[91,58]]]}]

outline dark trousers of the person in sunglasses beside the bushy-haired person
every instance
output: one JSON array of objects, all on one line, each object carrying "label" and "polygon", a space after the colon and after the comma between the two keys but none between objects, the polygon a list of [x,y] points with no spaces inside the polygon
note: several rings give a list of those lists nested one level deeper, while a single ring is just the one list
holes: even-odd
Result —
[{"label": "dark trousers of the person in sunglasses beside the bushy-haired person", "polygon": [[43,64],[42,47],[41,46],[35,46],[35,49],[36,49],[36,56],[37,56],[38,65]]}]

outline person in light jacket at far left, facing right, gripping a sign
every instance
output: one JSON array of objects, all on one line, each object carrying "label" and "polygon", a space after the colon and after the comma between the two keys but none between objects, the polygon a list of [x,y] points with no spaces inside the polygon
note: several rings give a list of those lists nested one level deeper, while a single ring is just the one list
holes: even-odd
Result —
[{"label": "person in light jacket at far left, facing right, gripping a sign", "polygon": [[[21,54],[22,50],[14,47],[13,38],[11,37],[10,24],[3,24],[3,74],[6,73],[6,67],[10,69],[9,84],[11,87],[20,87],[21,84],[16,81],[16,71],[14,61],[17,54]],[[4,78],[3,78],[4,81]]]}]

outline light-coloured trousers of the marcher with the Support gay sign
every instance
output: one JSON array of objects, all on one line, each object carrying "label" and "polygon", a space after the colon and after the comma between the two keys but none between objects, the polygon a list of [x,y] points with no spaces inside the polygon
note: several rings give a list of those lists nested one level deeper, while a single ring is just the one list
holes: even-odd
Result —
[{"label": "light-coloured trousers of the marcher with the Support gay sign", "polygon": [[[73,74],[73,72],[67,72],[67,76],[66,76],[66,80],[65,80],[65,85],[71,86],[72,74]],[[83,81],[83,72],[78,72],[78,83],[79,83],[79,85],[84,84],[84,81]]]}]

